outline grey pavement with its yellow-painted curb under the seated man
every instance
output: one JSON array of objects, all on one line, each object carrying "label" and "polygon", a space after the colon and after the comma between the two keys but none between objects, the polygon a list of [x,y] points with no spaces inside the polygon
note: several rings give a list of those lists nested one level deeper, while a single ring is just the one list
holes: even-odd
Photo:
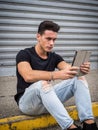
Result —
[{"label": "grey pavement with its yellow-painted curb under the seated man", "polygon": [[[86,75],[86,78],[90,88],[93,112],[95,117],[98,117],[98,70],[92,70]],[[60,130],[57,122],[50,114],[31,117],[19,111],[14,101],[16,83],[15,76],[0,77],[0,130]],[[77,121],[78,114],[74,98],[67,101],[65,105],[70,116]]]}]

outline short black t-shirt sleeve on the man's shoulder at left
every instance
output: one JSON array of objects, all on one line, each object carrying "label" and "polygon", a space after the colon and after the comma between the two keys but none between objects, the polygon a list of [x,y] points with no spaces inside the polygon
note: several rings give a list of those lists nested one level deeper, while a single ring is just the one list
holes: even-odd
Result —
[{"label": "short black t-shirt sleeve on the man's shoulder at left", "polygon": [[16,56],[16,65],[19,62],[27,61],[30,63],[30,56],[25,50],[21,50]]}]

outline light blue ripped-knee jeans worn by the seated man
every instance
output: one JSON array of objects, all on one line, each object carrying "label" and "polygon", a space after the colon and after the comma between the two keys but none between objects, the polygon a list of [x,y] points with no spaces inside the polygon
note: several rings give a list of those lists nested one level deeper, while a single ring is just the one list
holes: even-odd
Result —
[{"label": "light blue ripped-knee jeans worn by the seated man", "polygon": [[42,82],[38,81],[26,88],[19,101],[19,108],[23,113],[40,115],[49,112],[61,128],[66,130],[74,121],[63,104],[74,96],[80,121],[94,119],[89,89],[82,80],[75,77],[46,88]]}]

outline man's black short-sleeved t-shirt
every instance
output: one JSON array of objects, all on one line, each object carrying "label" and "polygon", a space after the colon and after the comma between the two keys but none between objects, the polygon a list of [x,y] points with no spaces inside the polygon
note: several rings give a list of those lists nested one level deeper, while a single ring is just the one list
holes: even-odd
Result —
[{"label": "man's black short-sleeved t-shirt", "polygon": [[15,95],[15,100],[17,103],[20,97],[23,95],[25,89],[33,83],[25,82],[22,76],[19,74],[17,70],[17,64],[22,61],[29,62],[34,70],[54,71],[55,68],[57,68],[58,63],[64,61],[64,59],[55,52],[49,52],[48,58],[42,59],[37,55],[35,47],[21,50],[16,56],[17,94]]}]

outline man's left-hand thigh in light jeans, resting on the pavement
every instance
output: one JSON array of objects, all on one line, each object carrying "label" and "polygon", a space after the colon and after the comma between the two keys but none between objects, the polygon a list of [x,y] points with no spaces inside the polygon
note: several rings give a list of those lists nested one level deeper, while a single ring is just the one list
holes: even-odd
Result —
[{"label": "man's left-hand thigh in light jeans, resting on the pavement", "polygon": [[20,110],[28,115],[47,113],[40,98],[41,81],[32,84],[25,90],[19,101]]}]

